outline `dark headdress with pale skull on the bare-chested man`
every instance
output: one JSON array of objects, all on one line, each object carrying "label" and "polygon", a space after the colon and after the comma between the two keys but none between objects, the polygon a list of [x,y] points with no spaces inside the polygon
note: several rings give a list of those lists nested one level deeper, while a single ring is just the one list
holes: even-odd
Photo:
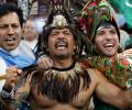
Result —
[{"label": "dark headdress with pale skull on the bare-chested man", "polygon": [[52,0],[52,9],[48,14],[46,25],[43,29],[43,40],[45,44],[45,48],[47,46],[47,38],[53,29],[63,29],[68,28],[72,30],[75,40],[77,41],[78,50],[76,54],[81,53],[81,42],[78,35],[78,31],[76,30],[76,23],[72,18],[70,12],[68,9],[65,8],[64,2],[65,0]]}]

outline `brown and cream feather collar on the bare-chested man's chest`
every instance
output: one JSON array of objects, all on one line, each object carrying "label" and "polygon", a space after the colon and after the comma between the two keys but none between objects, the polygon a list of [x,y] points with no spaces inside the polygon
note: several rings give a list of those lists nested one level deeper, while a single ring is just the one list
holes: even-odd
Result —
[{"label": "brown and cream feather collar on the bare-chested man's chest", "polygon": [[[87,70],[82,70],[78,63],[74,63],[68,68],[52,68],[50,70],[33,70],[32,87],[37,88],[37,92],[46,95],[48,98],[66,103],[72,101],[80,90],[87,90],[90,77]],[[26,73],[28,74],[28,73]],[[82,86],[80,87],[80,80]]]}]

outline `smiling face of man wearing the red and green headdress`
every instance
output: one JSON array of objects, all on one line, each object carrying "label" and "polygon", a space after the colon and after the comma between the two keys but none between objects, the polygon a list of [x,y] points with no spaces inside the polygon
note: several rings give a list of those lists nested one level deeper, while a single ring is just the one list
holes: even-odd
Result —
[{"label": "smiling face of man wearing the red and green headdress", "polygon": [[95,45],[98,52],[105,56],[113,56],[119,48],[119,36],[113,25],[100,26],[97,30]]}]

